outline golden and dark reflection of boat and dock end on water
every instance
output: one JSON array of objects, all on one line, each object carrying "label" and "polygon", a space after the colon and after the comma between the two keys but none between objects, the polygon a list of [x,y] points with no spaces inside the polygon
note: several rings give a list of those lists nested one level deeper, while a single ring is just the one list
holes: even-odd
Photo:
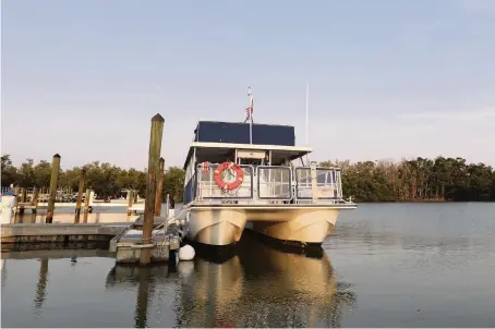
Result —
[{"label": "golden and dark reflection of boat and dock end on water", "polygon": [[177,269],[117,266],[107,288],[138,284],[138,327],[146,326],[156,285],[168,284],[167,291],[174,293],[169,297],[176,324],[168,326],[178,327],[339,327],[342,313],[355,301],[349,284],[337,282],[323,251],[288,253],[243,236],[222,259],[196,252],[194,261],[179,263]]}]

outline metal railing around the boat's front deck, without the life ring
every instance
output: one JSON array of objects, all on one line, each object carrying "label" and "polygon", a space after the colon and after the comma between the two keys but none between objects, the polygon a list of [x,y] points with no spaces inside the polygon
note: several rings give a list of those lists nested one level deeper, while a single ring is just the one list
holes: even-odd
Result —
[{"label": "metal railing around the boat's front deck, without the life ring", "polygon": [[[215,182],[217,163],[198,164],[185,185],[184,204],[192,202],[236,204],[342,203],[339,168],[290,168],[282,166],[241,164],[243,182],[226,191]],[[313,171],[312,171],[313,170]],[[224,178],[226,181],[229,178]],[[232,178],[234,179],[234,178]]]}]

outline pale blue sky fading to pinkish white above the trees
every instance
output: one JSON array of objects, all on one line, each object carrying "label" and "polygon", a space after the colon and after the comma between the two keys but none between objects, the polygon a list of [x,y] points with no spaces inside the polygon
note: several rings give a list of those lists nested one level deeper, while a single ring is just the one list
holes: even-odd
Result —
[{"label": "pale blue sky fading to pinkish white above the trees", "polygon": [[3,0],[1,153],[166,167],[198,120],[295,126],[312,160],[495,167],[495,1]]}]

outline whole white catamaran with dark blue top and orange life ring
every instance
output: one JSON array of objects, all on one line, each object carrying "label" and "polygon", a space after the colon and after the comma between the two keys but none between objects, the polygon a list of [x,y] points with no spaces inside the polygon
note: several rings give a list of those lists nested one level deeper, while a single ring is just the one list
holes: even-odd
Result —
[{"label": "whole white catamaran with dark blue top and orange life ring", "polygon": [[238,242],[244,229],[297,244],[322,244],[342,209],[339,168],[304,164],[312,151],[295,146],[294,127],[200,121],[184,163],[184,209],[191,241]]}]

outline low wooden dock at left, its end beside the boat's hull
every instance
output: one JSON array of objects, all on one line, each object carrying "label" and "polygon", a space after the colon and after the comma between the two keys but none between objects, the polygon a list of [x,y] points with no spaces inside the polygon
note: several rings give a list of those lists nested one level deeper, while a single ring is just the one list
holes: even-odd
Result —
[{"label": "low wooden dock at left, its end beside the boat's hull", "polygon": [[[152,261],[167,261],[170,252],[178,251],[181,230],[173,219],[155,216],[152,243],[143,244],[143,216],[131,223],[13,223],[1,226],[2,249],[61,248],[104,243],[117,263],[138,263],[143,248],[152,249]],[[101,245],[101,244],[99,244]],[[38,247],[36,247],[38,246]]]}]

